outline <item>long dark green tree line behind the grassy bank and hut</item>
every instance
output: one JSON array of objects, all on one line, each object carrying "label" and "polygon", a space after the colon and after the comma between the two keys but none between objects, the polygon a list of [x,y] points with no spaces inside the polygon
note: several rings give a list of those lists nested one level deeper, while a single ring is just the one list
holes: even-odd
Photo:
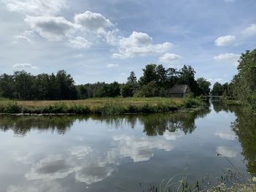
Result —
[{"label": "long dark green tree line behind the grassy bank and hut", "polygon": [[189,85],[194,96],[208,95],[210,85],[203,77],[195,80],[195,69],[165,69],[162,65],[148,64],[139,79],[130,72],[125,83],[96,82],[75,85],[64,70],[56,74],[32,75],[25,71],[0,75],[0,97],[20,100],[63,100],[99,97],[165,96],[168,88],[176,84]]}]

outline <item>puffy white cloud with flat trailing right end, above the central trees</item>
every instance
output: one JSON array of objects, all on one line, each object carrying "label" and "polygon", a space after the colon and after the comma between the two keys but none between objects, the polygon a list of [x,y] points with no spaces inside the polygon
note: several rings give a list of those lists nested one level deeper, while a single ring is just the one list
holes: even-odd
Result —
[{"label": "puffy white cloud with flat trailing right end, above the central trees", "polygon": [[118,53],[113,53],[113,58],[133,58],[148,54],[163,53],[172,47],[170,42],[153,44],[152,37],[148,34],[133,31],[129,37],[122,37],[118,42]]}]

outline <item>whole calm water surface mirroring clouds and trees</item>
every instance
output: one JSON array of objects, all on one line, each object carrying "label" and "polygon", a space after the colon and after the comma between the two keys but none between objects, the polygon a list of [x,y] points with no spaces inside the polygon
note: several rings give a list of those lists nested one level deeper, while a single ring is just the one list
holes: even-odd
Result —
[{"label": "whole calm water surface mirroring clouds and trees", "polygon": [[256,119],[239,108],[214,104],[201,112],[108,118],[0,116],[0,191],[142,191],[180,173],[191,180],[217,177],[230,167],[225,157],[254,175]]}]

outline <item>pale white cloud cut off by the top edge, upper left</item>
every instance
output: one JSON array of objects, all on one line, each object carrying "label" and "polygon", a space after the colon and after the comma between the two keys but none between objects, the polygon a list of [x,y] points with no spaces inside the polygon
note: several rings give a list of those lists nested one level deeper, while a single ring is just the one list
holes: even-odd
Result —
[{"label": "pale white cloud cut off by the top edge, upper left", "polygon": [[11,12],[22,12],[32,15],[54,15],[66,6],[66,0],[25,0],[4,1]]}]

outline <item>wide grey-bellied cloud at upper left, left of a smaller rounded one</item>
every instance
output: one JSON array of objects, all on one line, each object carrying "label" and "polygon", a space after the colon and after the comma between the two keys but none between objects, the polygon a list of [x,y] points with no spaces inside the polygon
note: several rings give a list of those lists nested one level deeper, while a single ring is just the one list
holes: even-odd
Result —
[{"label": "wide grey-bellied cloud at upper left, left of a smaller rounded one", "polygon": [[50,41],[64,39],[75,29],[73,23],[62,17],[26,16],[25,22],[32,31]]}]

